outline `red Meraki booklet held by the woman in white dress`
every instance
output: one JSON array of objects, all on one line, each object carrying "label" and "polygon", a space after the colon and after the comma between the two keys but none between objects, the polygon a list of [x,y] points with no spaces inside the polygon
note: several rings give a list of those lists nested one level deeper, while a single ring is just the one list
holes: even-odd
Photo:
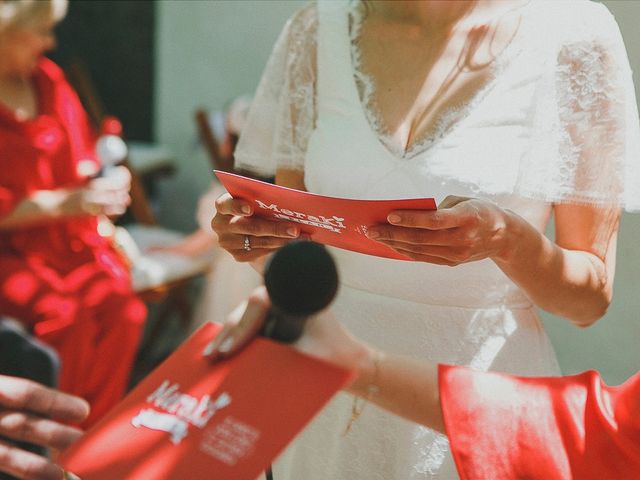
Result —
[{"label": "red Meraki booklet held by the woman in white dress", "polygon": [[234,198],[253,203],[254,214],[300,224],[311,240],[378,257],[409,260],[382,243],[368,239],[367,228],[387,223],[393,210],[435,210],[433,198],[403,200],[355,200],[316,195],[215,171]]}]

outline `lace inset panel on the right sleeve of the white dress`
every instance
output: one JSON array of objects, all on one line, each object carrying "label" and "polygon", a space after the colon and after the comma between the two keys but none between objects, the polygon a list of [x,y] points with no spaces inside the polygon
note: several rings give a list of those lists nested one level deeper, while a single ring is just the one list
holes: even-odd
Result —
[{"label": "lace inset panel on the right sleeve of the white dress", "polygon": [[625,153],[621,75],[595,42],[565,46],[558,55],[561,177],[578,197],[606,201],[620,191]]}]

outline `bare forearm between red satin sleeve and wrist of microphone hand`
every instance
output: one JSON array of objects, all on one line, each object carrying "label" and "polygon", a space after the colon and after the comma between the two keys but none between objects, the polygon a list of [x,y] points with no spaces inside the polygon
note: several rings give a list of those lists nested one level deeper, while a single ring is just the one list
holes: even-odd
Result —
[{"label": "bare forearm between red satin sleeve and wrist of microphone hand", "polygon": [[356,380],[348,389],[350,393],[407,420],[445,433],[436,364],[374,353],[371,349],[361,357]]}]

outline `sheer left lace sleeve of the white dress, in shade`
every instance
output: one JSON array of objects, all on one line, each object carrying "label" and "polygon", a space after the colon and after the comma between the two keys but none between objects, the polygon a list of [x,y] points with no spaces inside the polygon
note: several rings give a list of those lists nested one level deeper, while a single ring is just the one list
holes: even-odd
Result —
[{"label": "sheer left lace sleeve of the white dress, in shade", "polygon": [[276,42],[235,151],[236,168],[260,176],[304,169],[316,119],[315,4],[298,11]]}]

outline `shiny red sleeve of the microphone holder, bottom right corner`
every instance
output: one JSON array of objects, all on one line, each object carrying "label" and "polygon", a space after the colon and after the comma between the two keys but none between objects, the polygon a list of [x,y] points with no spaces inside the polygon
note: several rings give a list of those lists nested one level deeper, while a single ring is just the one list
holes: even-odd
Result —
[{"label": "shiny red sleeve of the microphone holder, bottom right corner", "polygon": [[441,365],[440,399],[462,479],[640,478],[640,374],[526,378]]}]

